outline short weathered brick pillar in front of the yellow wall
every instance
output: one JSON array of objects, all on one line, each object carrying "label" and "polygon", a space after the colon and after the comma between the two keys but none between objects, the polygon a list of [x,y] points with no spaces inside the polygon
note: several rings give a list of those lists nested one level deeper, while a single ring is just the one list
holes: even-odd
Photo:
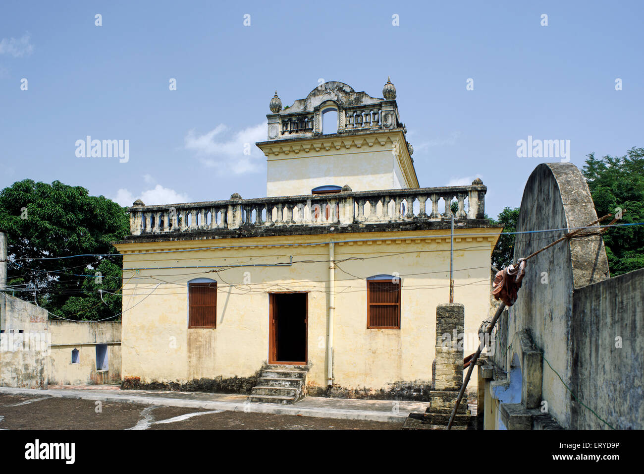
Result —
[{"label": "short weathered brick pillar in front of the yellow wall", "polygon": [[460,303],[436,308],[436,388],[459,391],[463,383],[465,307]]}]

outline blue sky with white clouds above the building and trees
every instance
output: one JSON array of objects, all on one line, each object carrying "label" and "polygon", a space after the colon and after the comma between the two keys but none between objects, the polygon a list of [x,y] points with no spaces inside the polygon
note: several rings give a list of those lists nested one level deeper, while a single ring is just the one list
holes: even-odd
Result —
[{"label": "blue sky with white clouds above the building and trees", "polygon": [[[265,140],[276,89],[284,105],[319,79],[382,97],[390,75],[421,186],[480,177],[496,216],[520,204],[538,163],[559,161],[517,157],[518,140],[570,140],[580,167],[590,152],[644,146],[643,12],[641,1],[3,0],[0,188],[59,180],[124,205],[262,197],[265,157],[243,143]],[[86,135],[129,140],[128,162],[77,157]]]}]

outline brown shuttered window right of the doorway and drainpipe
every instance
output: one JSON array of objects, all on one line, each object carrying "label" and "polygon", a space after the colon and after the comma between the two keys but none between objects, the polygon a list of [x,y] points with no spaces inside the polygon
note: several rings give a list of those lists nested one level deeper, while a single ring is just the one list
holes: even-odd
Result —
[{"label": "brown shuttered window right of the doorway and drainpipe", "polygon": [[401,328],[401,282],[392,280],[368,280],[367,328]]}]

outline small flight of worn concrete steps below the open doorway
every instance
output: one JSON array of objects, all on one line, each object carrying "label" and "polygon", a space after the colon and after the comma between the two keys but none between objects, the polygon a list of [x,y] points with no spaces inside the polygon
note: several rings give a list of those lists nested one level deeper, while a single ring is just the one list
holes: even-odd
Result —
[{"label": "small flight of worn concrete steps below the open doorway", "polygon": [[307,366],[274,364],[268,366],[252,388],[250,402],[291,404],[305,397]]}]

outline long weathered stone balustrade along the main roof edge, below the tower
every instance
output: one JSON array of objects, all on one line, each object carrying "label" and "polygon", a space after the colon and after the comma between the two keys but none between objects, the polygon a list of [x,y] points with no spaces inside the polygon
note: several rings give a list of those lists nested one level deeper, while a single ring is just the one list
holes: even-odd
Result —
[{"label": "long weathered stone balustrade along the main roof edge, below the tower", "polygon": [[[418,219],[482,219],[486,186],[477,179],[471,186],[419,188],[320,195],[187,202],[130,207],[131,235],[237,229],[260,226],[331,226],[382,224]],[[455,204],[454,204],[455,203]],[[455,212],[452,212],[455,206]]]}]

